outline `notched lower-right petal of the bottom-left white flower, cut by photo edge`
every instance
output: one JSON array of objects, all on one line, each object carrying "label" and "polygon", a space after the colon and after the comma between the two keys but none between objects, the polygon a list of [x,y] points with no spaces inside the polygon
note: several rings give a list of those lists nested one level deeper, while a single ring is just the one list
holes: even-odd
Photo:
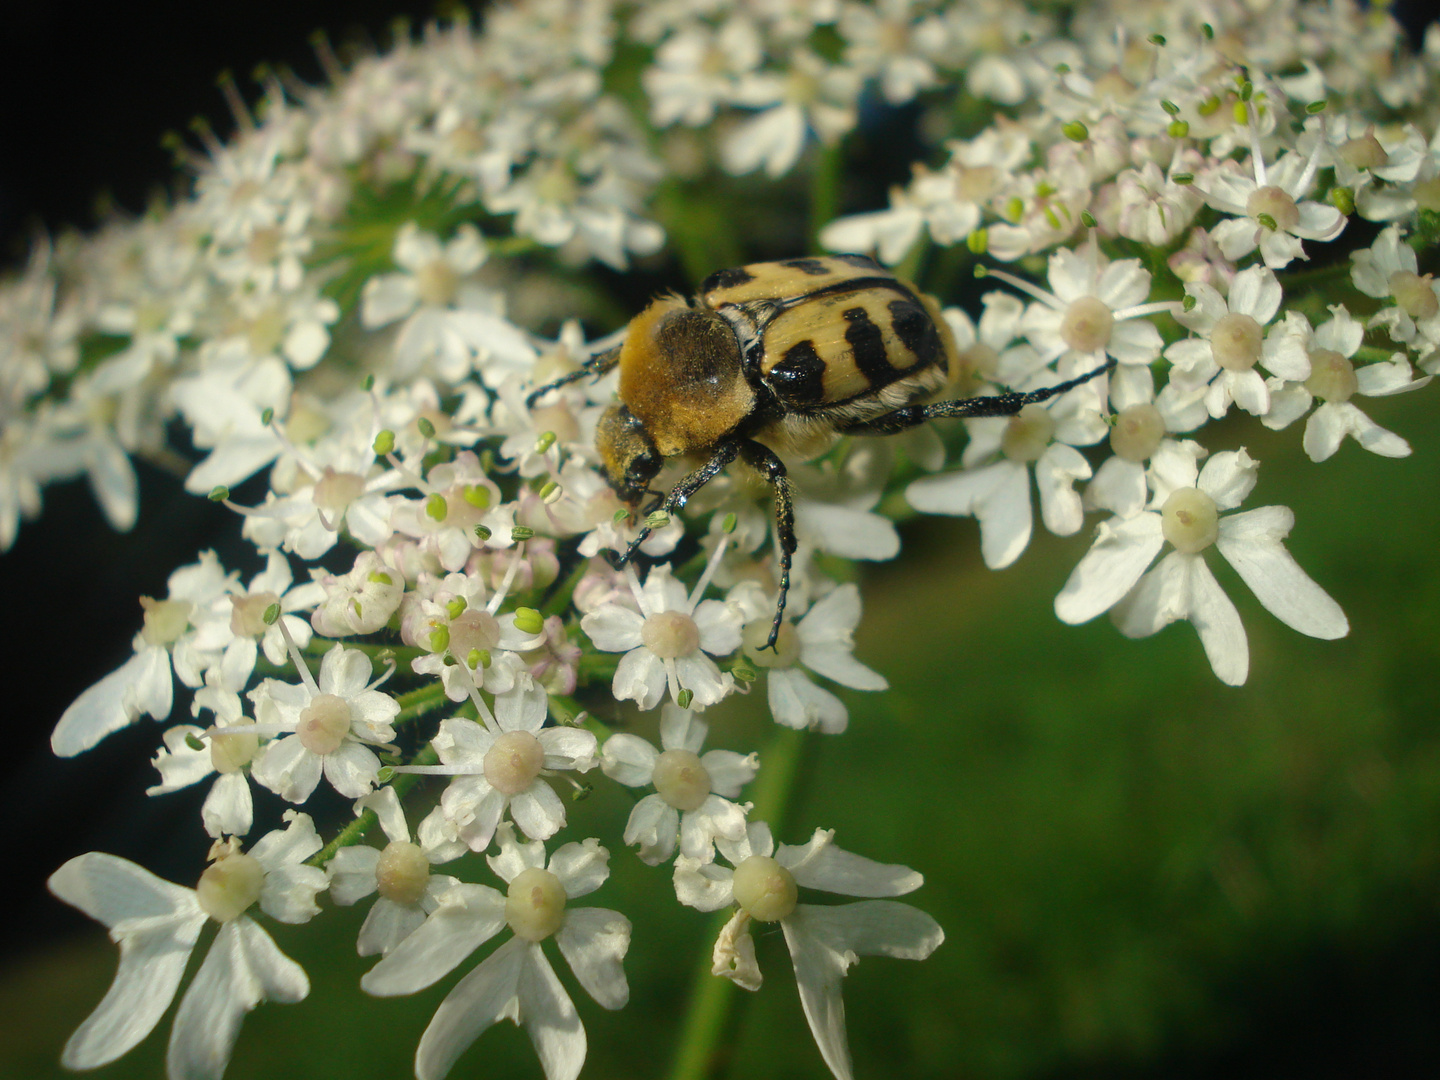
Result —
[{"label": "notched lower-right petal of the bottom-left white flower, cut by photo edge", "polygon": [[262,1001],[295,1002],[310,994],[304,969],[271,936],[240,916],[220,927],[186,991],[170,1030],[171,1080],[219,1080],[245,1014]]}]

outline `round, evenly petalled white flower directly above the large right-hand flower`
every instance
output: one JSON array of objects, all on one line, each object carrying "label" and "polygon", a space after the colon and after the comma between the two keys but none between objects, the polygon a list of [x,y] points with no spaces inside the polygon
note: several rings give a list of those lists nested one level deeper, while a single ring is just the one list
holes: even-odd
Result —
[{"label": "round, evenly petalled white flower directly above the large right-hand flower", "polygon": [[1178,392],[1205,387],[1204,402],[1211,416],[1224,416],[1231,402],[1256,416],[1270,410],[1270,392],[1257,366],[1282,379],[1309,377],[1305,317],[1286,312],[1266,333],[1284,297],[1273,271],[1266,266],[1240,271],[1230,284],[1228,301],[1201,282],[1185,285],[1185,294],[1195,298],[1195,305],[1179,311],[1175,320],[1197,336],[1172,344],[1165,359],[1179,372],[1171,377]]}]

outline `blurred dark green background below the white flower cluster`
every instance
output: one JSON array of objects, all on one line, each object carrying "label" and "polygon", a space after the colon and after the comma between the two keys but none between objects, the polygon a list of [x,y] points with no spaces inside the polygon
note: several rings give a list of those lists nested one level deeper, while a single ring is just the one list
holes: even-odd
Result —
[{"label": "blurred dark green background below the white flower cluster", "polygon": [[[1433,1076],[1440,1051],[1440,491],[1436,389],[1362,402],[1411,439],[1384,461],[1348,444],[1323,465],[1300,429],[1215,429],[1261,462],[1247,505],[1283,503],[1290,549],[1345,608],[1351,636],[1280,625],[1228,567],[1251,672],[1211,674],[1188,624],[1148,641],[1056,621],[1087,540],[1037,536],[999,573],[972,521],[904,527],[867,567],[857,654],[886,694],[845,693],[850,732],[809,737],[780,838],[816,825],[926,876],[909,900],[945,926],[924,963],[865,959],[847,979],[857,1074],[878,1077]],[[755,696],[710,716],[713,742],[763,746]],[[148,737],[148,733],[147,733]],[[635,922],[629,1008],[583,998],[585,1076],[662,1077],[711,924],[622,850],[625,796],[603,782],[570,835],[596,829],[612,880],[590,901]],[[480,870],[480,876],[485,871]],[[403,1077],[458,975],[408,999],[356,989],[363,912],[272,926],[310,971],[300,1005],[262,1007],[228,1073]],[[739,995],[717,1076],[821,1077],[776,933],[766,985]],[[59,1073],[115,950],[98,929],[0,968],[0,1076]],[[462,965],[461,972],[469,965]],[[164,1032],[99,1070],[163,1074]],[[454,1076],[540,1076],[526,1038],[488,1032]]]}]

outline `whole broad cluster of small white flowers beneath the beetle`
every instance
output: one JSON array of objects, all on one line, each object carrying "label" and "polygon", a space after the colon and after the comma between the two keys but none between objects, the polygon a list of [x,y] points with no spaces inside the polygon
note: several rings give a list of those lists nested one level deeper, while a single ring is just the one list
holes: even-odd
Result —
[{"label": "whole broad cluster of small white flowers beneath the beetle", "polygon": [[[1295,516],[1241,508],[1257,461],[1202,429],[1303,418],[1316,462],[1346,436],[1410,454],[1356,399],[1440,372],[1440,48],[1411,55],[1344,1],[1092,0],[1064,30],[1058,7],[500,7],[331,85],[274,79],[235,141],[197,157],[189,197],[40,245],[0,284],[0,546],[45,484],[76,475],[130,527],[131,459],[173,454],[183,428],[199,452],[186,488],[230,507],[256,553],[252,573],[204,553],[144,598],[134,657],[55,729],[69,756],[168,724],[179,680],[194,723],[158,734],[151,793],[210,782],[215,838],[194,891],[102,854],[52,877],[122,952],[66,1064],[144,1038],[213,920],[170,1070],[219,1076],[246,1011],[308,992],[248,913],[305,922],[328,890],[372,904],[359,950],[380,956],[361,981],[374,995],[419,991],[511,932],[439,1007],[422,1080],[498,1020],[526,1028],[550,1080],[575,1077],[585,1030],[543,943],[618,1009],[634,927],[570,904],[611,854],[562,837],[557,788],[608,778],[647,789],[615,837],[671,867],[660,893],[733,910],[716,975],[757,989],[750,927],[780,924],[847,1080],[847,968],[943,940],[890,899],[922,878],[827,829],[776,844],[779,822],[744,801],[766,755],[704,744],[762,681],[778,724],[822,733],[845,730],[844,693],[887,690],[854,655],[861,590],[841,563],[896,554],[884,514],[972,516],[995,569],[1030,543],[1032,488],[1057,536],[1097,516],[1057,615],[1109,612],[1128,636],[1188,621],[1228,684],[1250,657],[1210,549],[1286,625],[1348,632],[1286,550]],[[1007,112],[962,130],[959,95]],[[658,265],[667,240],[706,251],[714,210],[691,215],[685,193],[739,216],[796,173],[834,190],[867,109],[912,102],[933,157],[880,209],[835,216],[819,199],[822,228],[798,243],[873,253],[922,288],[940,264],[1002,285],[978,321],[933,304],[943,373],[926,392],[1068,389],[893,441],[837,444],[809,415],[806,438],[775,448],[792,480],[773,531],[750,477],[720,471],[733,452],[674,513],[622,503],[596,449],[616,380],[577,377],[615,366],[613,302],[580,269]],[[609,318],[605,336],[586,340],[585,317]],[[670,461],[657,485],[683,477]],[[613,730],[657,706],[660,749]],[[274,812],[327,788],[357,815],[333,844],[285,809],[242,851],[256,801]]]}]

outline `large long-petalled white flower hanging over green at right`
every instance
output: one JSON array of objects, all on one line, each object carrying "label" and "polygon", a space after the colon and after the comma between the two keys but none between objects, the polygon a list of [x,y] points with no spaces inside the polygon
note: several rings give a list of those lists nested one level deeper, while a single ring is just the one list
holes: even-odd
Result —
[{"label": "large long-petalled white flower hanging over green at right", "polygon": [[[1295,524],[1287,507],[1221,517],[1254,488],[1257,468],[1243,449],[1217,454],[1198,480],[1192,468],[1179,478],[1188,485],[1156,490],[1151,510],[1102,521],[1094,544],[1056,598],[1056,615],[1074,624],[1115,608],[1116,625],[1130,638],[1189,619],[1215,675],[1241,685],[1250,651],[1240,613],[1205,564],[1204,552],[1214,546],[1277,619],[1312,638],[1345,636],[1345,612],[1284,550]],[[1175,550],[1146,573],[1166,541]]]}]

